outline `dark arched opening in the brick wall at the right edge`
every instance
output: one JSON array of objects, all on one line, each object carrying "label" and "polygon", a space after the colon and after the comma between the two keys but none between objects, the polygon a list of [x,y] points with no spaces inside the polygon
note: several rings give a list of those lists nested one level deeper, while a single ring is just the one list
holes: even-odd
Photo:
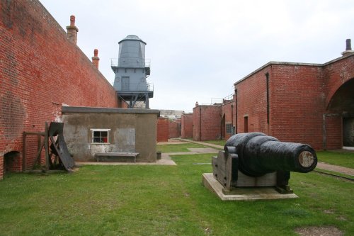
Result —
[{"label": "dark arched opening in the brick wall at the right edge", "polygon": [[354,78],[342,84],[327,105],[328,113],[342,117],[343,146],[354,147]]}]

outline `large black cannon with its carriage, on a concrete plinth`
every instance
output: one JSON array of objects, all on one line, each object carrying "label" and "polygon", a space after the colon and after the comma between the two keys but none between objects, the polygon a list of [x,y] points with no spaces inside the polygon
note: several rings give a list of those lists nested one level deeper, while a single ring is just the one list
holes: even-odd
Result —
[{"label": "large black cannon with its carriage, on a concrete plinth", "polygon": [[233,135],[217,157],[212,157],[213,175],[224,192],[236,187],[275,186],[291,193],[290,172],[311,172],[317,164],[309,145],[280,142],[263,133]]}]

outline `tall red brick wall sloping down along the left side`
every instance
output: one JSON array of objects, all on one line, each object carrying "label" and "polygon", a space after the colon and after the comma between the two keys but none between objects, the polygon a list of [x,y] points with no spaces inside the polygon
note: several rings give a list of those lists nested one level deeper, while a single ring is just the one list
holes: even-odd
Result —
[{"label": "tall red brick wall sloping down along the left side", "polygon": [[[0,61],[0,156],[22,152],[22,132],[43,131],[61,117],[62,103],[118,106],[113,86],[39,1],[1,1]],[[29,166],[37,139],[27,146]]]}]

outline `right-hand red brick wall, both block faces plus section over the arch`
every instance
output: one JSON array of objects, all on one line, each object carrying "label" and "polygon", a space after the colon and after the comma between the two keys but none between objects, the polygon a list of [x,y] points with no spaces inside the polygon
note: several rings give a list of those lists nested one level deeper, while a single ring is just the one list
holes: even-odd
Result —
[{"label": "right-hand red brick wall, both block faces plus section over the arch", "polygon": [[[259,131],[282,141],[302,142],[316,150],[342,147],[341,116],[324,114],[329,96],[350,78],[353,79],[354,57],[320,64],[269,64],[235,85],[237,90],[237,132]],[[267,89],[269,73],[269,125],[267,123]]]}]

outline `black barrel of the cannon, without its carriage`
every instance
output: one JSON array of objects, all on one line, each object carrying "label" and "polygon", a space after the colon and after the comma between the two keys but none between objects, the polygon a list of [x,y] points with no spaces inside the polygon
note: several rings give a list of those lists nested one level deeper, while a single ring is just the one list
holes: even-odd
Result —
[{"label": "black barrel of the cannon, without its carriage", "polygon": [[311,172],[317,164],[316,152],[312,147],[294,142],[280,142],[263,133],[240,133],[227,140],[224,150],[236,147],[239,170],[248,176],[267,173]]}]

